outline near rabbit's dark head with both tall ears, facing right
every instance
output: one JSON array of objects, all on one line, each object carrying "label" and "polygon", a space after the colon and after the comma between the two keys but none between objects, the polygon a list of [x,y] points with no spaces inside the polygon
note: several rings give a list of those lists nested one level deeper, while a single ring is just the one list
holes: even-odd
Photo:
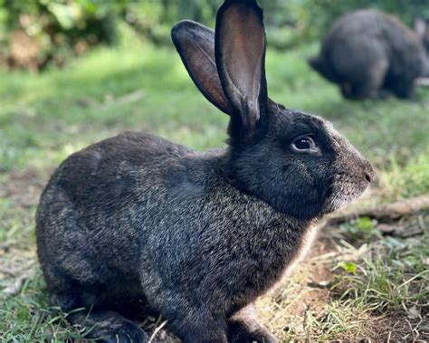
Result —
[{"label": "near rabbit's dark head with both tall ears, facing right", "polygon": [[364,192],[373,170],[346,138],[328,121],[268,98],[266,36],[254,0],[225,1],[215,32],[183,21],[172,39],[197,88],[231,117],[224,175],[234,186],[301,219]]}]

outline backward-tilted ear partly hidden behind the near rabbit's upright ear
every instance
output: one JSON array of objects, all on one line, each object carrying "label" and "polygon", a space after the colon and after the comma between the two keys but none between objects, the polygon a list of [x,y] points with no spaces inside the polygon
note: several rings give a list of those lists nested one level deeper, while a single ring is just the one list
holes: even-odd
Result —
[{"label": "backward-tilted ear partly hidden behind the near rabbit's upright ear", "polygon": [[219,110],[233,111],[224,95],[215,62],[215,32],[205,25],[184,20],[171,30],[171,39],[186,70],[205,98]]}]

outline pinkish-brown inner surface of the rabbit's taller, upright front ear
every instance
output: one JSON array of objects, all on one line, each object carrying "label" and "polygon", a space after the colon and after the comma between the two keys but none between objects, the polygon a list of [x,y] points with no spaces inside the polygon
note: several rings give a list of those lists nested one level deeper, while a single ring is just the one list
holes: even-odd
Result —
[{"label": "pinkish-brown inner surface of the rabbit's taller, upright front ear", "polygon": [[259,94],[264,52],[260,18],[245,5],[232,6],[225,14],[222,31],[226,71],[242,95],[254,101]]}]

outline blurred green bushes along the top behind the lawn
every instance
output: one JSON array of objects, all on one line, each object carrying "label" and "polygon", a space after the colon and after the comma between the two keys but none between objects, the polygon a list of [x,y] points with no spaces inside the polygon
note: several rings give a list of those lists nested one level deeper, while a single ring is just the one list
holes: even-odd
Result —
[{"label": "blurred green bushes along the top behind the lawn", "polygon": [[[169,43],[180,19],[212,25],[219,0],[0,0],[0,63],[38,71],[118,40],[127,24],[143,39]],[[429,19],[427,0],[261,0],[270,44],[279,49],[320,38],[340,14],[372,7],[405,24]]]}]

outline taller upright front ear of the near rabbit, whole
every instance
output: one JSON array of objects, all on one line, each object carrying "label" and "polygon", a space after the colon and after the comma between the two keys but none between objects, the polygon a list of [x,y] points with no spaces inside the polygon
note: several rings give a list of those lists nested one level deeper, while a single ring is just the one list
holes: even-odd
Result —
[{"label": "taller upright front ear of the near rabbit, whole", "polygon": [[[265,127],[266,37],[262,9],[255,0],[225,0],[215,29],[215,57],[224,93],[239,114],[246,135]],[[234,115],[233,115],[233,119]]]}]

